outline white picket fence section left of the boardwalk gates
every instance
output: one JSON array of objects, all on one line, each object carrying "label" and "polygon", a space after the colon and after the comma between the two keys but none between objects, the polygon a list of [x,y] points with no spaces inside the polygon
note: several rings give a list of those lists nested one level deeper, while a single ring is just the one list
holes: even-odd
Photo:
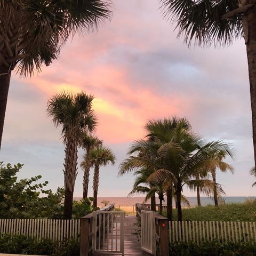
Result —
[{"label": "white picket fence section left of the boardwalk gates", "polygon": [[80,220],[0,219],[0,236],[3,234],[10,234],[11,237],[23,234],[37,240],[77,239],[80,234]]}]

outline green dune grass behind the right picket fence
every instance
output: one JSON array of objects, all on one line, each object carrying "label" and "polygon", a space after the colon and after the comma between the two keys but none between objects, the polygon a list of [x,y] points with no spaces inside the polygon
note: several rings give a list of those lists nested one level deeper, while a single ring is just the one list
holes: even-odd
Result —
[{"label": "green dune grass behind the right picket fence", "polygon": [[[164,213],[163,215],[166,215]],[[197,206],[182,210],[184,221],[256,221],[256,201],[245,203]],[[173,220],[177,220],[177,210],[173,210]]]}]

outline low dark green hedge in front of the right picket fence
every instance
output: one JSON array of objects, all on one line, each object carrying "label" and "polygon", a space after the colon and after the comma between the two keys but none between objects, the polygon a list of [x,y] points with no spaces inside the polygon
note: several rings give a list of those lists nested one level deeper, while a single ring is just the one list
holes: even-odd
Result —
[{"label": "low dark green hedge in front of the right picket fence", "polygon": [[174,243],[170,246],[172,256],[253,256],[256,246],[249,243],[219,243],[205,242],[201,245],[195,243]]}]

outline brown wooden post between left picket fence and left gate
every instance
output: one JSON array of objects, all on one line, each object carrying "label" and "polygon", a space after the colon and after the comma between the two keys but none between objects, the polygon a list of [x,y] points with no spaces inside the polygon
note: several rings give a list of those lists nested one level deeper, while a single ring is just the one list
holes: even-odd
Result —
[{"label": "brown wooden post between left picket fence and left gate", "polygon": [[80,227],[80,256],[88,256],[90,249],[90,218],[81,218]]}]

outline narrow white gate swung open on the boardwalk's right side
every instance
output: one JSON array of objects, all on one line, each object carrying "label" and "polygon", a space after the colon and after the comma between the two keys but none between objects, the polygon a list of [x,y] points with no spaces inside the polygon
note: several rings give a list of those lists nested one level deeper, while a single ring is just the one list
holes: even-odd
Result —
[{"label": "narrow white gate swung open on the boardwalk's right side", "polygon": [[141,211],[141,249],[156,255],[155,212]]}]

